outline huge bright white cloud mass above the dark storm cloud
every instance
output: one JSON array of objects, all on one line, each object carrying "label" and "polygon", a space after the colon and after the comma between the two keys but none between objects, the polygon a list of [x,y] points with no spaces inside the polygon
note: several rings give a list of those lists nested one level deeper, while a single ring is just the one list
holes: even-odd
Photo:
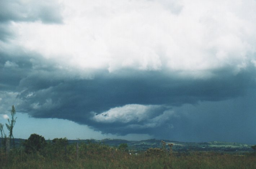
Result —
[{"label": "huge bright white cloud mass above the dark storm cloud", "polygon": [[[195,76],[255,58],[256,1],[63,1],[64,24],[12,23],[17,43],[63,66]],[[194,73],[193,72],[199,72]]]}]

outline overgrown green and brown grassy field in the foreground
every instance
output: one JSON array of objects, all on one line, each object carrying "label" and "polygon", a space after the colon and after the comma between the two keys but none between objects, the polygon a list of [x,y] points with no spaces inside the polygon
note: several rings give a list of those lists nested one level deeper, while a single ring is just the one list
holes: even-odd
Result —
[{"label": "overgrown green and brown grassy field in the foreground", "polygon": [[255,169],[256,155],[232,155],[217,152],[173,152],[151,149],[129,154],[101,144],[81,144],[63,147],[47,146],[27,154],[14,149],[0,154],[1,169]]}]

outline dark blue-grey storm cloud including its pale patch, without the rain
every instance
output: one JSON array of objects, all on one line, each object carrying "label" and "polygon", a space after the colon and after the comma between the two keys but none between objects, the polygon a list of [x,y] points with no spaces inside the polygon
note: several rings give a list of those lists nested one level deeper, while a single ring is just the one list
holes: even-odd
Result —
[{"label": "dark blue-grey storm cloud including its pale patch, without the rain", "polygon": [[[11,78],[3,83],[13,86],[11,89],[17,92],[15,100],[19,111],[37,118],[69,119],[102,133],[149,133],[160,137],[164,132],[158,131],[163,128],[165,132],[175,131],[178,126],[185,130],[186,124],[176,124],[177,121],[184,123],[183,120],[188,118],[181,111],[184,105],[197,107],[199,103],[221,103],[220,107],[225,108],[222,102],[244,97],[255,88],[254,65],[237,74],[226,67],[213,71],[213,76],[209,78],[199,79],[180,77],[175,72],[164,70],[123,70],[114,73],[97,70],[81,78],[76,77],[75,72],[57,69],[57,63],[48,63],[47,60],[35,62],[23,58],[22,62],[17,63],[7,60],[2,61],[1,72],[5,72],[5,77],[17,74],[20,79]],[[219,111],[224,111],[227,116],[237,113],[221,108]],[[193,108],[186,111],[185,114],[191,112],[198,116],[193,113],[196,111]],[[210,109],[204,111],[200,118],[212,116]],[[238,112],[243,114],[243,111]],[[183,120],[181,117],[184,117]],[[172,134],[175,135],[177,133]]]}]

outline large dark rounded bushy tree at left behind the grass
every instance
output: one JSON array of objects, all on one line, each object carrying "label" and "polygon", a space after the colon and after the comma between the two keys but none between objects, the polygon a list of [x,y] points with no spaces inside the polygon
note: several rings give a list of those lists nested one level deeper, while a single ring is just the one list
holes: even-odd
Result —
[{"label": "large dark rounded bushy tree at left behind the grass", "polygon": [[36,151],[43,150],[46,145],[46,141],[43,136],[31,134],[30,137],[25,140],[23,145],[25,146],[25,152],[31,154]]}]

